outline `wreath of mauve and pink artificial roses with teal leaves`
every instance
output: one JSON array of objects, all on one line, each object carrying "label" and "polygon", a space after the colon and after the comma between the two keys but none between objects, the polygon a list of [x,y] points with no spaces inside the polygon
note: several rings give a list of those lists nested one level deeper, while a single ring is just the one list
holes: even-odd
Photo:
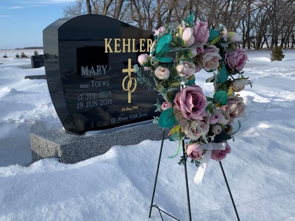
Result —
[{"label": "wreath of mauve and pink artificial roses with teal leaves", "polygon": [[[244,115],[245,104],[240,92],[252,82],[241,72],[247,61],[245,49],[238,49],[239,36],[227,32],[223,25],[208,28],[204,21],[193,22],[193,13],[176,28],[169,24],[155,31],[155,40],[150,55],[138,56],[145,71],[150,71],[153,80],[146,78],[141,68],[135,65],[137,81],[153,87],[165,99],[157,101],[161,114],[154,123],[163,128],[172,128],[170,141],[179,141],[179,147],[170,156],[180,151],[185,138],[186,158],[198,167],[206,154],[204,144],[226,143],[223,149],[212,150],[211,159],[220,161],[231,152],[227,140],[234,139],[232,124]],[[213,96],[205,96],[195,84],[195,73],[204,69],[211,73],[206,82],[214,85]],[[236,77],[234,77],[236,76]],[[179,164],[183,164],[181,157]]]}]

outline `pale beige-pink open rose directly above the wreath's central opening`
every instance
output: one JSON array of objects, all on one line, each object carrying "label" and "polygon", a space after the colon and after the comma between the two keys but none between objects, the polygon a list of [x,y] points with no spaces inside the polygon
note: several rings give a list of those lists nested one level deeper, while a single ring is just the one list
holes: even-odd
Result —
[{"label": "pale beige-pink open rose directly above the wreath's central opening", "polygon": [[204,48],[204,52],[198,56],[199,64],[206,71],[217,69],[219,67],[219,60],[222,59],[218,53],[219,49],[214,45]]}]

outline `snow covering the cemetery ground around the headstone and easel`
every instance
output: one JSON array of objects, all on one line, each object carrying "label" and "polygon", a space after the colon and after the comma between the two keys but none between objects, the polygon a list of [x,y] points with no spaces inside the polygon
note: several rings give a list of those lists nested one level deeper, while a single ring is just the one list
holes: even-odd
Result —
[{"label": "snow covering the cemetery ground around the headstone and easel", "polygon": [[[294,221],[295,51],[270,62],[268,51],[248,51],[245,74],[254,87],[241,92],[247,117],[222,161],[242,221]],[[145,221],[148,219],[160,142],[112,147],[104,155],[73,165],[42,160],[31,166],[29,132],[61,127],[44,74],[29,59],[0,58],[0,221]],[[205,79],[196,83],[212,94]],[[160,131],[159,131],[160,132]],[[183,166],[170,156],[176,143],[164,142],[155,196],[180,220],[188,220]],[[188,164],[193,220],[236,220],[218,162],[210,161],[200,187]],[[164,220],[170,220],[164,216]]]}]

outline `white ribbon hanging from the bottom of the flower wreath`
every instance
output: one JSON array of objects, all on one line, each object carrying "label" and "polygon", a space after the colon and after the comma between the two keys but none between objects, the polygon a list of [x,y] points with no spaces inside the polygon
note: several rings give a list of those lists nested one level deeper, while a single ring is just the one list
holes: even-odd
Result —
[{"label": "white ribbon hanging from the bottom of the flower wreath", "polygon": [[202,145],[203,149],[207,149],[206,153],[203,156],[202,163],[197,169],[197,173],[194,178],[194,183],[197,186],[200,186],[202,183],[202,179],[206,170],[206,167],[209,164],[212,150],[225,150],[226,143],[208,143]]}]

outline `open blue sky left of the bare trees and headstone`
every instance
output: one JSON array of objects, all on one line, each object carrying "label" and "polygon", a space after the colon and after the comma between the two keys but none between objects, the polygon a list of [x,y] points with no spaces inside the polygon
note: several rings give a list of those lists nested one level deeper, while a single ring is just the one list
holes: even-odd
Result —
[{"label": "open blue sky left of the bare trees and headstone", "polygon": [[0,0],[0,49],[42,46],[42,31],[75,0]]}]

